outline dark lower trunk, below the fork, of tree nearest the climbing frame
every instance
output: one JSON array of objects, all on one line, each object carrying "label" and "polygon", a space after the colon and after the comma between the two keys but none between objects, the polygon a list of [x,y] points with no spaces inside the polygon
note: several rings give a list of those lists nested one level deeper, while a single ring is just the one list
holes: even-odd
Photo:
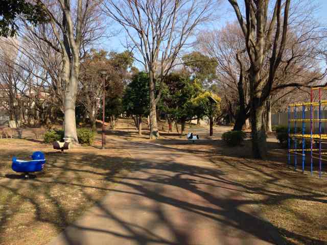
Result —
[{"label": "dark lower trunk, below the fork, of tree nearest the climbing frame", "polygon": [[253,97],[251,111],[253,157],[265,159],[267,156],[266,127],[263,122],[264,106],[259,98]]}]

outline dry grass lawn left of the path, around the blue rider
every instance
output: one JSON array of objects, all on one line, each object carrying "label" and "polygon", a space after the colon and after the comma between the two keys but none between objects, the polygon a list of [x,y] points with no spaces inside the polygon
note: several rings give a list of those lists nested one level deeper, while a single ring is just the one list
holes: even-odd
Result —
[{"label": "dry grass lawn left of the path, around the blue rider", "polygon": [[[110,144],[107,145],[110,148]],[[45,153],[37,178],[17,179],[12,156]],[[101,200],[110,180],[123,174],[128,152],[80,146],[60,154],[51,145],[27,139],[2,139],[0,144],[0,244],[46,244],[83,211]]]}]

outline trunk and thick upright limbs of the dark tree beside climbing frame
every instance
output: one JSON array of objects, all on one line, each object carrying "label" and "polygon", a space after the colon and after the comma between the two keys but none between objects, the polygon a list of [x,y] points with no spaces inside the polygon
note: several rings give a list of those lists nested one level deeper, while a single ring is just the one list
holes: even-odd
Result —
[{"label": "trunk and thick upright limbs of the dark tree beside climbing frame", "polygon": [[[265,117],[264,104],[266,98],[271,92],[276,70],[282,62],[287,41],[291,0],[276,1],[273,10],[274,17],[272,18],[267,18],[266,10],[269,5],[268,0],[244,1],[246,17],[242,16],[238,1],[228,0],[228,2],[235,10],[240,23],[245,38],[246,51],[250,60],[250,113],[253,156],[256,158],[265,158],[267,155],[267,146],[266,127],[263,122]],[[284,13],[281,13],[283,6]],[[254,18],[255,20],[253,20]],[[282,20],[282,18],[284,20]],[[270,23],[267,22],[268,19],[270,19]],[[276,31],[275,35],[273,34],[274,30]],[[271,48],[267,48],[267,42],[273,43]],[[262,76],[262,70],[264,69],[264,66],[268,64],[265,63],[266,55],[270,56],[267,80]]]}]

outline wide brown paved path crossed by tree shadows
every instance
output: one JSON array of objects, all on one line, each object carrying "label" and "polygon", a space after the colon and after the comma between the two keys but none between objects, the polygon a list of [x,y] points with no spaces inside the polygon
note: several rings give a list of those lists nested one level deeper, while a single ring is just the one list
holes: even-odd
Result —
[{"label": "wide brown paved path crossed by tree shadows", "polygon": [[[51,245],[275,244],[242,189],[201,153],[115,141],[137,162]],[[201,149],[199,149],[201,150]]]}]

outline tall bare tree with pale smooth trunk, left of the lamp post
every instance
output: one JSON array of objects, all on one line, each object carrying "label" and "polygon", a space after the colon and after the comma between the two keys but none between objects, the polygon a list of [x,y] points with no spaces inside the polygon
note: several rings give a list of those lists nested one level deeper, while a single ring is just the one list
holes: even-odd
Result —
[{"label": "tall bare tree with pale smooth trunk, left of the lamp post", "polygon": [[[52,52],[60,56],[60,74],[55,76],[59,82],[56,84],[61,86],[55,89],[63,91],[65,138],[78,143],[75,106],[80,59],[86,45],[99,38],[97,31],[103,27],[99,18],[99,2],[78,0],[71,3],[69,0],[50,0],[42,3],[49,15],[49,23],[37,28],[29,27],[27,24],[27,29],[39,42],[44,42],[51,47]],[[53,61],[56,61],[56,58]]]}]

